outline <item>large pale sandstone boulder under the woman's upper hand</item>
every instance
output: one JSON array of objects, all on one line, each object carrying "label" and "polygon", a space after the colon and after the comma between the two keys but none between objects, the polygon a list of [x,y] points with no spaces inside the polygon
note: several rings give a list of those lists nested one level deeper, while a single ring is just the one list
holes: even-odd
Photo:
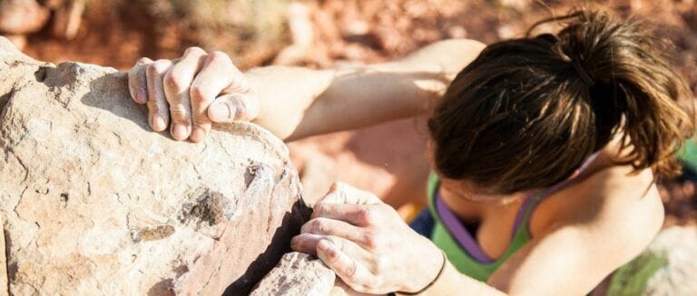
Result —
[{"label": "large pale sandstone boulder under the woman's upper hand", "polygon": [[290,251],[307,209],[272,134],[240,123],[174,142],[125,74],[37,62],[2,37],[0,69],[12,294],[244,294]]}]

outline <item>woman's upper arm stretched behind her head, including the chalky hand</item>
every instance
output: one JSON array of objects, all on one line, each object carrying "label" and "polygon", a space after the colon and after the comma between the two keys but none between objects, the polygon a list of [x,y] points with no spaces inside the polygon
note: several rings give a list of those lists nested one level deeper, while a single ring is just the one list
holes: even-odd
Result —
[{"label": "woman's upper arm stretched behind her head, including the chalky hand", "polygon": [[268,66],[242,74],[220,52],[191,48],[176,61],[142,59],[131,94],[148,104],[150,124],[200,142],[213,122],[253,120],[280,138],[355,129],[425,114],[484,44],[453,39],[406,58],[331,70]]}]

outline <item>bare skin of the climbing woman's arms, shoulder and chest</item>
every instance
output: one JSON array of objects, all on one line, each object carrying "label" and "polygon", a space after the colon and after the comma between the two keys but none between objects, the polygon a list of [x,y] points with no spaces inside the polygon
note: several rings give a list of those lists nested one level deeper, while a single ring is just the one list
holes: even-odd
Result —
[{"label": "bare skin of the climbing woman's arms, shoulder and chest", "polygon": [[[224,54],[191,48],[179,60],[142,59],[129,72],[129,85],[134,100],[148,104],[152,129],[172,124],[175,140],[201,142],[211,123],[253,120],[292,141],[427,114],[483,48],[447,40],[387,64],[321,71],[270,66],[246,74]],[[641,252],[663,223],[653,174],[614,165],[623,155],[618,146],[608,144],[573,183],[537,207],[532,241],[486,283],[456,271],[375,195],[346,184],[316,203],[292,247],[317,255],[350,288],[367,293],[420,291],[433,282],[425,294],[581,295]],[[482,249],[501,256],[529,192],[499,195],[466,180],[441,181],[444,202],[461,219],[479,221]]]}]

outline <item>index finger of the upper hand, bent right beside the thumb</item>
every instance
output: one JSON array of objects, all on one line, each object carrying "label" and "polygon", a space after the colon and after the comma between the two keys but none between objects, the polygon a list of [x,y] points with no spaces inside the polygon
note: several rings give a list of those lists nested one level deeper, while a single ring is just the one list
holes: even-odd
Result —
[{"label": "index finger of the upper hand, bent right beside the thumb", "polygon": [[201,142],[211,131],[208,107],[218,94],[234,83],[234,75],[241,73],[227,54],[213,52],[204,59],[201,72],[191,83],[191,141]]}]

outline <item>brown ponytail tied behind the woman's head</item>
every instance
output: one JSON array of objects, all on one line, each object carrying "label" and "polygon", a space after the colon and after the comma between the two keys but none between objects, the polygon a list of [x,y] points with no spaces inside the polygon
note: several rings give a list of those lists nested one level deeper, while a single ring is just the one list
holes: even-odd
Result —
[{"label": "brown ponytail tied behind the woman's head", "polygon": [[627,163],[636,169],[676,172],[674,143],[685,131],[692,133],[692,118],[676,102],[692,94],[668,63],[672,46],[639,23],[603,12],[577,11],[545,21],[560,20],[569,23],[557,34],[553,51],[574,68],[578,82],[602,85],[589,91],[596,123],[624,122],[618,128],[623,143],[633,149]]}]

